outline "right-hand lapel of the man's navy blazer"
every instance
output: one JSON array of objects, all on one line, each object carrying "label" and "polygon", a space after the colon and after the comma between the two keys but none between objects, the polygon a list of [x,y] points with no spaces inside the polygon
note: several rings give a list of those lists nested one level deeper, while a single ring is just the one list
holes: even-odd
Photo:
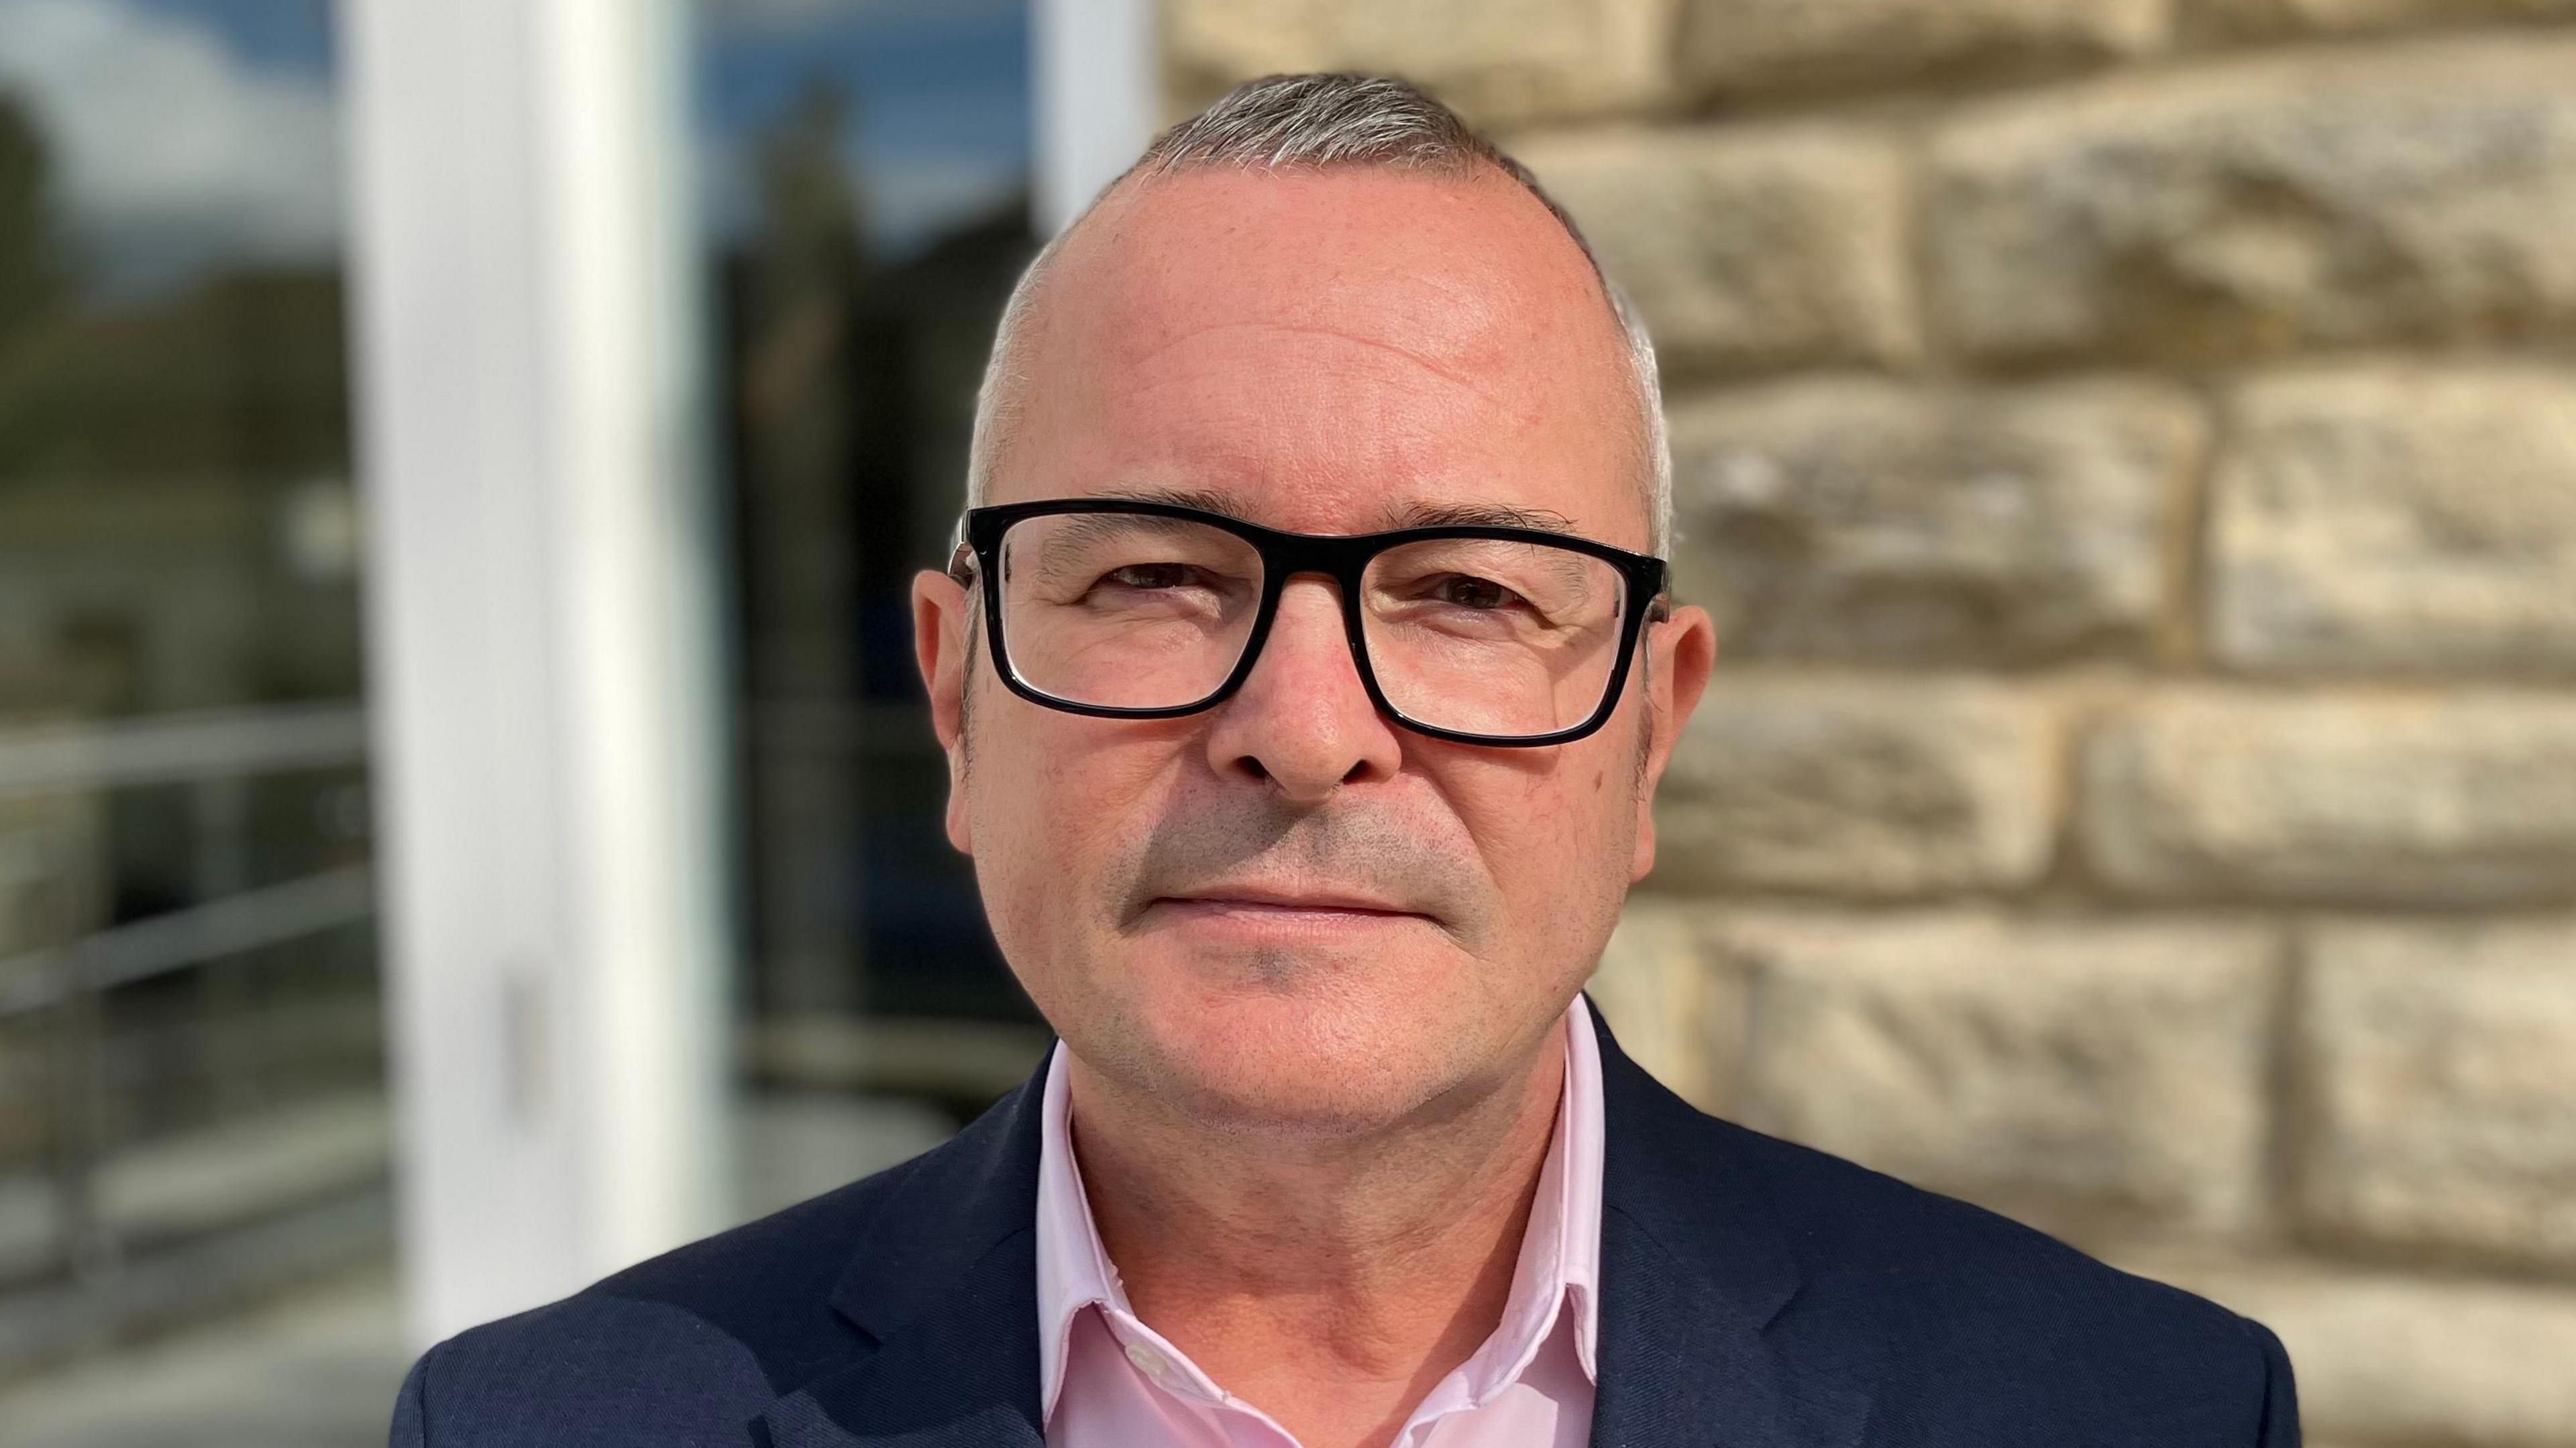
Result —
[{"label": "right-hand lapel of the man's navy blazer", "polygon": [[1777,1208],[1723,1152],[1734,1129],[1664,1090],[1592,1020],[1607,1131],[1592,1448],[1857,1443],[1868,1373],[1850,1353],[1801,1353],[1772,1332],[1801,1273]]}]

